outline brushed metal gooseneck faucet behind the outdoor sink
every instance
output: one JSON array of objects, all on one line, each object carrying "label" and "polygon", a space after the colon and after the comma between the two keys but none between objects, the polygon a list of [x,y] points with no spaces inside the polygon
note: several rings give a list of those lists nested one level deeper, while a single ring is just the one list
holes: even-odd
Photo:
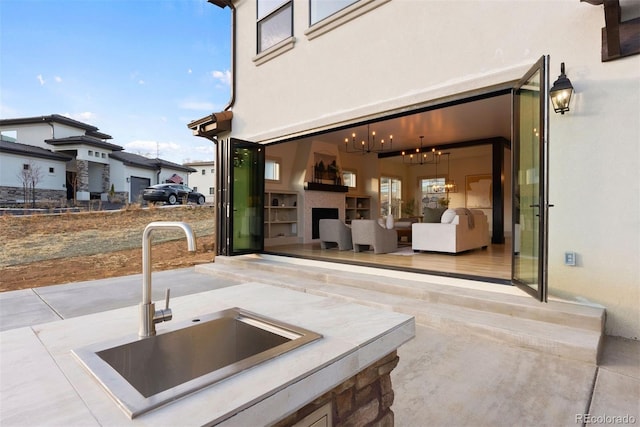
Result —
[{"label": "brushed metal gooseneck faucet behind the outdoor sink", "polygon": [[178,228],[187,235],[187,247],[190,252],[196,250],[196,236],[189,224],[176,221],[156,221],[149,223],[142,233],[142,302],[140,303],[140,338],[156,334],[156,323],[168,322],[173,317],[169,308],[169,289],[165,296],[165,308],[156,310],[151,301],[151,234],[160,228]]}]

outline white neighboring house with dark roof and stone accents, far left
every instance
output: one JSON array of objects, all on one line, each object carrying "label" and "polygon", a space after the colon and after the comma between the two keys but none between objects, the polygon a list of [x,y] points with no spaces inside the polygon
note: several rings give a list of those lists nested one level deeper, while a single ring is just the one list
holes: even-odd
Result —
[{"label": "white neighboring house with dark roof and stone accents, far left", "polygon": [[135,202],[146,186],[179,181],[193,171],[126,153],[97,127],[58,114],[2,119],[0,135],[0,202],[4,203],[23,202],[23,181],[34,175],[38,200],[106,200],[113,186],[121,200]]}]

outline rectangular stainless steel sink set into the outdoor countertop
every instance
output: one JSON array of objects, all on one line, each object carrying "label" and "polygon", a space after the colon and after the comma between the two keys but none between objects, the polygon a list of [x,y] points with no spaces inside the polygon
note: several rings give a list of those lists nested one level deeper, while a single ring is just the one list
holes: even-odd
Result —
[{"label": "rectangular stainless steel sink set into the outdoor countertop", "polygon": [[176,324],[167,332],[73,350],[120,407],[144,412],[321,338],[239,308]]}]

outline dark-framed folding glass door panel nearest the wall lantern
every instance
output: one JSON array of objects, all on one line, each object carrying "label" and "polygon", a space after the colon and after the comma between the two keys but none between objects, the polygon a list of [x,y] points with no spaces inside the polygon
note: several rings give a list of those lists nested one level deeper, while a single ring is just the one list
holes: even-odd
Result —
[{"label": "dark-framed folding glass door panel nearest the wall lantern", "polygon": [[543,56],[514,93],[512,281],[547,299],[548,57]]}]

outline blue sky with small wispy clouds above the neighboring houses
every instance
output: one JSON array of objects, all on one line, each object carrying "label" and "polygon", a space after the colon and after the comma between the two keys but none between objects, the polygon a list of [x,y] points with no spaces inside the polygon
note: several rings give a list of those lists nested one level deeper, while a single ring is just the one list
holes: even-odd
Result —
[{"label": "blue sky with small wispy clouds above the neighboring houses", "polygon": [[0,117],[62,114],[126,151],[213,160],[186,124],[229,100],[230,11],[206,0],[0,0]]}]

